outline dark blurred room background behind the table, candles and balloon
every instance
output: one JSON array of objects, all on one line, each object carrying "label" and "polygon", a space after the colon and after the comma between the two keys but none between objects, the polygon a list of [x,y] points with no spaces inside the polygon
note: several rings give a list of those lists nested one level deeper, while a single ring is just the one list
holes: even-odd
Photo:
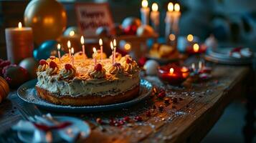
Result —
[{"label": "dark blurred room background behind the table, candles and balloon", "polygon": [[[139,0],[59,0],[67,11],[67,27],[77,26],[74,4],[76,2],[108,2],[115,23],[127,16],[140,17]],[[149,0],[156,2],[164,21],[167,4],[171,0]],[[181,5],[180,35],[193,34],[206,39],[210,34],[219,41],[219,46],[256,46],[256,1],[255,0],[177,0]],[[24,9],[29,1],[0,1],[0,57],[6,59],[4,29],[23,22]],[[160,36],[164,34],[164,22],[160,25]],[[243,142],[242,127],[245,124],[243,99],[232,103],[214,128],[202,142]],[[255,140],[256,142],[256,140]]]}]

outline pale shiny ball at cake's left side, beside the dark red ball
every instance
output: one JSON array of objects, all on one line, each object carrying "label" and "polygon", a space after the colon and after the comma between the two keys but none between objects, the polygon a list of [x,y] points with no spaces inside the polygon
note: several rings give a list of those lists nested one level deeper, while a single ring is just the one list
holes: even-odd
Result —
[{"label": "pale shiny ball at cake's left side, beside the dark red ball", "polygon": [[27,58],[19,63],[19,66],[27,69],[29,77],[31,79],[37,78],[37,67],[39,66],[38,61],[34,58]]}]

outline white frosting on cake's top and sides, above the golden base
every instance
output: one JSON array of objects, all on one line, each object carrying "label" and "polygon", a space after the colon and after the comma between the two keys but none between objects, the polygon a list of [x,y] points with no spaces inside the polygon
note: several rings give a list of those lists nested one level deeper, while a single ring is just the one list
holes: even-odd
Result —
[{"label": "white frosting on cake's top and sides, above the golden base", "polygon": [[[95,69],[93,59],[77,59],[75,60],[75,67],[65,71],[65,63],[68,63],[69,58],[62,58],[62,64],[57,63],[57,74],[49,75],[47,70],[37,71],[37,87],[46,89],[48,92],[52,92],[56,96],[86,96],[86,95],[113,95],[126,92],[140,83],[139,68],[136,61],[132,61],[129,64],[123,60],[120,69],[124,69],[123,66],[128,66],[128,70],[120,70],[113,72],[111,59],[104,59],[99,63],[102,64],[102,68]],[[41,66],[40,66],[41,67]],[[101,67],[101,66],[100,66]],[[75,70],[75,71],[74,71]],[[60,74],[67,77],[66,73],[75,73],[72,78],[61,78]],[[100,77],[93,77],[92,73],[100,73]],[[105,74],[105,76],[101,75]],[[94,75],[94,74],[93,74]]]}]

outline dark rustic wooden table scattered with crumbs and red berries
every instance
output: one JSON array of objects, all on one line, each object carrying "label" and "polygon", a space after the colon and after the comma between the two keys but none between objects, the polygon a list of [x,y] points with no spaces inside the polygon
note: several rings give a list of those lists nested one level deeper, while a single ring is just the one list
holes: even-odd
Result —
[{"label": "dark rustic wooden table scattered with crumbs and red berries", "polygon": [[[248,66],[214,65],[213,68],[211,80],[186,87],[171,87],[161,84],[156,77],[146,77],[156,87],[166,89],[170,104],[152,96],[128,109],[65,115],[80,117],[90,123],[92,132],[87,142],[199,142],[232,99],[250,95],[248,88],[252,87],[254,81],[253,72]],[[22,107],[27,105],[17,97],[16,91],[11,92],[9,98],[0,105],[1,131],[22,119],[14,101]],[[162,111],[160,105],[163,105]],[[252,109],[253,106],[249,107]],[[253,117],[253,114],[247,115]],[[143,121],[135,122],[133,118],[136,116],[142,117]],[[105,124],[98,126],[95,122],[98,117]],[[121,120],[124,117],[130,117],[131,122],[118,127],[108,124],[110,119]],[[249,119],[250,122],[245,126],[247,142],[251,142],[253,137],[251,125],[254,120]]]}]

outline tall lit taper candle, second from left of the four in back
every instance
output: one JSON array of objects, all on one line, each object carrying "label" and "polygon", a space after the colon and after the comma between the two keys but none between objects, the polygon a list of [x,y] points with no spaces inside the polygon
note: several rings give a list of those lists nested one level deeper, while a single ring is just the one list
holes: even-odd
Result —
[{"label": "tall lit taper candle, second from left of the four in back", "polygon": [[155,29],[155,31],[158,31],[159,11],[158,11],[158,5],[156,3],[152,4],[151,21],[153,23],[153,28]]}]

